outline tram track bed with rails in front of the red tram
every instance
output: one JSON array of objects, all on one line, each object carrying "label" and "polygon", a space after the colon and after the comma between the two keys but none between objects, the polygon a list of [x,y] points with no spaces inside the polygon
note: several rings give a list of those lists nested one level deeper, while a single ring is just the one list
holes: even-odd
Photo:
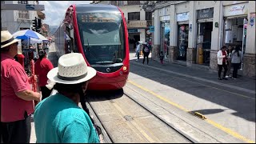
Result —
[{"label": "tram track bed with rails in front of the red tram", "polygon": [[[106,95],[106,94],[102,94],[102,95],[100,95],[100,97],[101,98],[104,97],[103,95]],[[117,142],[127,142],[125,139],[122,141],[122,139],[120,139],[120,138],[115,138],[118,136],[116,134],[112,134],[113,129],[111,129],[110,126],[106,126],[106,124],[104,124],[104,123],[110,123],[111,121],[102,122],[101,118],[98,116],[98,114],[96,112],[96,111],[101,111],[101,110],[94,110],[94,109],[97,109],[97,105],[94,105],[94,102],[97,102],[97,98],[94,95],[92,95],[92,97],[94,98],[94,100],[93,100],[93,102],[90,102],[90,99],[89,99],[88,107],[90,107],[90,111],[93,111],[93,114],[95,115],[94,120],[96,122],[99,122],[100,127],[102,128],[102,131],[106,132],[106,134],[103,133],[104,142],[106,142],[106,143],[113,142],[114,143],[115,139],[118,139]],[[97,95],[97,97],[99,97],[99,95]],[[184,143],[197,143],[198,142],[194,138],[191,138],[189,135],[183,133],[182,130],[178,130],[171,124],[163,121],[162,118],[159,118],[157,114],[154,114],[154,112],[147,109],[146,106],[142,106],[141,103],[136,102],[136,100],[134,98],[131,98],[129,96],[129,94],[123,93],[122,98],[111,98],[110,96],[105,96],[104,98],[102,98],[102,100],[105,103],[107,101],[107,105],[110,105],[111,108],[114,108],[115,110],[113,110],[113,111],[116,111],[117,112],[116,114],[118,114],[118,117],[122,118],[121,122],[113,121],[116,123],[115,124],[112,123],[110,125],[116,126],[116,128],[120,128],[118,126],[126,125],[125,127],[130,129],[128,131],[130,131],[130,134],[132,134],[132,136],[130,136],[130,137],[131,138],[138,137],[139,142],[174,142],[174,141],[177,142],[177,140],[178,140],[178,142],[184,142]],[[133,114],[134,111],[124,109],[124,106],[122,106],[122,104],[124,104],[124,103],[132,103],[132,105],[134,105],[134,106],[136,105],[135,107],[138,107],[137,111],[140,111],[140,112],[146,111],[146,113],[144,112],[144,115],[142,115],[142,116],[138,116],[138,115],[136,116],[136,114]],[[102,106],[105,106],[105,105],[102,104]],[[133,107],[133,106],[131,106],[131,107]],[[138,110],[138,109],[142,109],[142,110]],[[112,112],[110,112],[110,113],[112,113]],[[102,114],[100,114],[100,115],[102,115]],[[102,119],[104,119],[104,118],[102,118]],[[150,124],[148,122],[151,122],[152,124]],[[156,125],[156,126],[154,126],[154,125]],[[123,128],[123,127],[121,127],[121,128]],[[126,131],[126,128],[123,128],[124,129],[123,131]],[[159,130],[159,131],[157,131],[157,130]],[[122,130],[121,130],[121,132],[122,132]],[[162,134],[159,134],[159,133],[162,133]],[[164,139],[162,139],[162,138],[164,138]],[[135,141],[131,140],[130,142],[135,142]]]}]

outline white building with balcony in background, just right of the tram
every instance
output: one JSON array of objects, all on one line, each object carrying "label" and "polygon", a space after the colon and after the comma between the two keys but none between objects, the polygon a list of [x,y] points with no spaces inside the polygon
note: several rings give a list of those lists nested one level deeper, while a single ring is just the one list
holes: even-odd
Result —
[{"label": "white building with balcony in background, just right of the tram", "polygon": [[[142,6],[146,1],[95,1],[97,4],[109,4],[118,6],[124,13],[128,29],[130,49],[133,50],[135,42],[152,41],[152,12],[146,12]],[[154,1],[151,1],[154,2]]]}]

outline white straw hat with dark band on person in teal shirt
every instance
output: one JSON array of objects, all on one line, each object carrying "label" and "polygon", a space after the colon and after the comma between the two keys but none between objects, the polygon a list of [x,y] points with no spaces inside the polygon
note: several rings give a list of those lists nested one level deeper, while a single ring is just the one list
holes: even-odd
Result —
[{"label": "white straw hat with dark band on person in teal shirt", "polygon": [[58,58],[58,67],[50,70],[47,78],[57,83],[77,84],[86,82],[95,75],[96,70],[86,65],[82,54],[70,53]]}]

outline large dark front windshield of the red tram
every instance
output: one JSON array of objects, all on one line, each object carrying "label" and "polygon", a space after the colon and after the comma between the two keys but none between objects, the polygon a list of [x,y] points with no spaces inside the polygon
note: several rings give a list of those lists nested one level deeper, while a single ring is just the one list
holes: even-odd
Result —
[{"label": "large dark front windshield of the red tram", "polygon": [[124,58],[124,30],[120,13],[78,14],[78,30],[90,64],[114,64]]}]

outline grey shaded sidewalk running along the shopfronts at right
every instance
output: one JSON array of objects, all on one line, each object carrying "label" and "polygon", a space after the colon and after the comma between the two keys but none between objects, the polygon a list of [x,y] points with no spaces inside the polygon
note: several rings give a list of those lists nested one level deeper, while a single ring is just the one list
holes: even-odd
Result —
[{"label": "grey shaded sidewalk running along the shopfronts at right", "polygon": [[[136,58],[134,57],[135,53],[130,53],[130,63],[132,64],[142,64],[143,57],[140,56],[140,60],[136,62]],[[170,74],[179,75],[182,77],[193,78],[195,80],[200,80],[203,82],[210,82],[211,84],[217,84],[219,86],[226,86],[227,88],[232,88],[235,90],[241,90],[250,94],[255,93],[255,78],[253,77],[246,77],[241,76],[239,79],[232,79],[228,78],[228,80],[218,80],[218,71],[214,70],[206,70],[206,69],[199,69],[200,66],[196,66],[196,68],[189,67],[189,66],[182,66],[179,64],[173,64],[169,62],[164,62],[162,65],[160,60],[153,60],[149,58],[149,65],[143,66],[150,66],[155,70],[163,70]],[[223,74],[223,73],[222,73]]]}]

